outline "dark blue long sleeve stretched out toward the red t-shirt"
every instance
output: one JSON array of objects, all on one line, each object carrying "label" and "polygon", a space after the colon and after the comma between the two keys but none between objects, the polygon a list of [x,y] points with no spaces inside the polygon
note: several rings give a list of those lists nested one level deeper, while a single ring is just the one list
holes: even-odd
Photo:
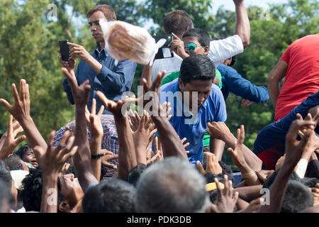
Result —
[{"label": "dark blue long sleeve stretched out toward the red t-shirt", "polygon": [[229,92],[242,99],[248,99],[254,103],[265,102],[269,99],[268,90],[263,86],[256,86],[249,80],[242,78],[240,74],[232,67],[219,64],[217,69],[222,75],[222,88],[224,99],[228,98]]}]

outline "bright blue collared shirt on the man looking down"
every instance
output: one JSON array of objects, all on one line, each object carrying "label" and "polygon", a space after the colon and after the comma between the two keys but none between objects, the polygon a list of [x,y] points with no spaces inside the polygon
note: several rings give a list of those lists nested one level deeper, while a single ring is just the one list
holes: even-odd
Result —
[{"label": "bright blue collared shirt on the man looking down", "polygon": [[[194,116],[185,110],[180,96],[177,96],[172,101],[172,94],[165,92],[172,92],[173,94],[180,92],[178,79],[174,79],[172,82],[164,84],[161,87],[159,99],[161,103],[164,101],[171,102],[172,110],[170,114],[172,114],[172,118],[169,120],[169,123],[175,129],[179,138],[186,137],[186,142],[190,143],[187,147],[187,150],[189,150],[189,162],[193,165],[196,165],[197,160],[203,162],[203,134],[207,128],[207,121],[226,121],[227,118],[223,94],[215,84],[212,84],[211,94],[198,109],[198,114]],[[193,122],[186,121],[191,118],[194,118]]]}]

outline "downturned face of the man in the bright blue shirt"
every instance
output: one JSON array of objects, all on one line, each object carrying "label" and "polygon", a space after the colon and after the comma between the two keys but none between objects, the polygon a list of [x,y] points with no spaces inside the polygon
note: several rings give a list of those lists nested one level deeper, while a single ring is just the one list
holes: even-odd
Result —
[{"label": "downturned face of the man in the bright blue shirt", "polygon": [[[209,94],[211,94],[211,80],[191,80],[191,82],[184,84],[179,78],[179,89],[181,92],[189,92],[189,109],[192,107],[192,92],[197,93],[197,107],[198,109],[206,101]],[[186,100],[183,100],[185,104]],[[196,106],[196,105],[195,105]]]}]

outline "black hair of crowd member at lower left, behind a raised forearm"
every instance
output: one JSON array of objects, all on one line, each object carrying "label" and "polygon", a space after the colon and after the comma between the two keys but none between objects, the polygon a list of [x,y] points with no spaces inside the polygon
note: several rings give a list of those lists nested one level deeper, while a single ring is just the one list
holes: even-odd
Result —
[{"label": "black hair of crowd member at lower left, behind a raised forearm", "polygon": [[[23,201],[26,211],[40,212],[42,187],[42,171],[40,167],[30,169],[29,174],[22,181],[22,189],[18,194],[18,199]],[[57,178],[57,204],[60,204],[62,199],[60,179]]]}]

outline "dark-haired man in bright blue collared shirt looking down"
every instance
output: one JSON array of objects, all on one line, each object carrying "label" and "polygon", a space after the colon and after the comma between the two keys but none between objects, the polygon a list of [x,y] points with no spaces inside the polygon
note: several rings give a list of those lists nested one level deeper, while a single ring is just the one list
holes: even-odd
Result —
[{"label": "dark-haired man in bright blue collared shirt looking down", "polygon": [[[172,107],[172,124],[179,138],[187,138],[190,143],[189,161],[203,162],[203,134],[207,121],[226,121],[226,107],[220,89],[212,84],[215,67],[209,57],[191,55],[181,63],[178,79],[161,87],[161,103],[169,101]],[[197,95],[196,95],[197,93]],[[211,138],[211,152],[218,159],[223,155],[225,143]]]}]

